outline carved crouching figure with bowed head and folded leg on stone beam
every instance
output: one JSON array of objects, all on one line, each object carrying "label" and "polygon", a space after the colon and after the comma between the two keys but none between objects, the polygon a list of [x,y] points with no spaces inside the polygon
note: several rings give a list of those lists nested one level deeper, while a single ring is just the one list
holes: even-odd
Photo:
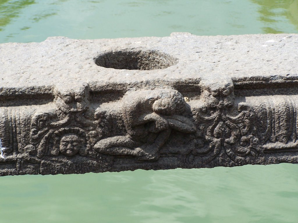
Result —
[{"label": "carved crouching figure with bowed head and folded leg on stone beam", "polygon": [[156,160],[171,129],[185,133],[196,131],[192,120],[184,116],[189,109],[187,106],[183,96],[173,89],[129,92],[124,96],[122,106],[127,134],[102,139],[94,148],[107,155]]}]

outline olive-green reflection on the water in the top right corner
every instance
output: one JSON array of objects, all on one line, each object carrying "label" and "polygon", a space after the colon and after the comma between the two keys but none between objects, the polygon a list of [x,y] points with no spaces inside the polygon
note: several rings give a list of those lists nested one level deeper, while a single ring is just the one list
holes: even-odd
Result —
[{"label": "olive-green reflection on the water in the top right corner", "polygon": [[298,30],[298,0],[252,0],[260,6],[260,21],[265,23],[265,33],[284,33],[280,26],[284,20],[290,21]]}]

